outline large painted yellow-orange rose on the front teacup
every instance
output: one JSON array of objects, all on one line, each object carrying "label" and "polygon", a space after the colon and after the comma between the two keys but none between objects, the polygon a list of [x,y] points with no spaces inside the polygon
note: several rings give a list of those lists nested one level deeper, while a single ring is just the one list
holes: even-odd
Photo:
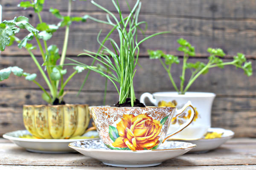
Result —
[{"label": "large painted yellow-orange rose on the front teacup", "polygon": [[116,124],[119,137],[112,145],[128,147],[131,150],[151,149],[160,143],[158,135],[161,128],[162,124],[158,120],[147,115],[123,115],[121,121]]}]

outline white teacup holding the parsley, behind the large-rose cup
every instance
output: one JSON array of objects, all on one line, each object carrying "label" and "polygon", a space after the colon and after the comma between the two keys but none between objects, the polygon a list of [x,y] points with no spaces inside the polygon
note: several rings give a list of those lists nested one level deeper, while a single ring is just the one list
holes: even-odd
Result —
[{"label": "white teacup holding the parsley, behind the large-rose cup", "polygon": [[[177,108],[181,108],[187,101],[191,101],[193,106],[198,112],[198,116],[195,117],[194,121],[182,132],[177,133],[171,138],[180,139],[198,139],[204,136],[208,128],[211,127],[211,110],[212,102],[215,98],[214,93],[204,93],[204,92],[186,92],[186,94],[178,94],[177,92],[157,92],[154,94],[144,93],[140,96],[140,102],[145,104],[145,98],[148,98],[150,102],[158,106],[159,102],[172,102],[176,101]],[[186,109],[188,113],[189,109]],[[177,117],[180,121],[186,121],[182,117]],[[179,127],[179,123],[176,122],[175,125],[170,126],[168,133],[175,131]]]}]

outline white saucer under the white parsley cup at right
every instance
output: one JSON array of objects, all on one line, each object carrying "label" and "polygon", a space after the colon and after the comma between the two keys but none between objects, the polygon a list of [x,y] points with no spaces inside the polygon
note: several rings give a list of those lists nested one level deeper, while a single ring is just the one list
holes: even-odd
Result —
[{"label": "white saucer under the white parsley cup at right", "polygon": [[231,130],[226,130],[222,128],[210,127],[207,133],[216,132],[221,133],[221,137],[213,138],[213,139],[168,139],[168,141],[182,141],[182,142],[190,142],[192,144],[196,144],[197,147],[192,149],[190,152],[198,152],[204,153],[209,150],[216,149],[217,147],[221,146],[227,142],[227,140],[231,139],[234,136],[234,132]]}]

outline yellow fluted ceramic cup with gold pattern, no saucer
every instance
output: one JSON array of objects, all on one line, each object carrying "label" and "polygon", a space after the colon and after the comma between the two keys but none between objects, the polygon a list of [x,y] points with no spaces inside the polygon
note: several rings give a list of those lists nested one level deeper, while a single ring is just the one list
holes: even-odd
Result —
[{"label": "yellow fluted ceramic cup with gold pattern, no saucer", "polygon": [[26,129],[41,139],[69,139],[85,133],[90,113],[88,105],[23,105]]}]

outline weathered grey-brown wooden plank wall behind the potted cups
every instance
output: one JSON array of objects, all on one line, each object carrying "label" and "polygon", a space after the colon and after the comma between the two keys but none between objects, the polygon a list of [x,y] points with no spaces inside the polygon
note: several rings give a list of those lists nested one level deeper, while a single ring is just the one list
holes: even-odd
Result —
[{"label": "weathered grey-brown wooden plank wall behind the potted cups", "polygon": [[[111,11],[114,11],[110,0],[95,0]],[[35,26],[38,18],[32,10],[24,11],[17,8],[20,0],[0,0],[3,6],[3,19],[11,20],[15,16],[24,15],[30,18]],[[132,5],[135,0],[128,0]],[[124,0],[121,2],[123,13],[128,10]],[[164,69],[157,60],[149,60],[147,49],[161,49],[169,54],[177,54],[176,40],[186,38],[195,45],[196,56],[191,62],[207,62],[207,48],[223,48],[228,55],[224,60],[237,52],[246,54],[253,64],[253,76],[246,77],[241,70],[227,66],[224,70],[213,68],[207,76],[201,76],[192,85],[190,91],[213,92],[217,94],[212,108],[212,126],[223,127],[235,131],[237,137],[256,137],[256,1],[255,0],[142,0],[140,20],[148,22],[146,34],[158,31],[171,31],[146,41],[141,46],[140,64],[134,80],[137,97],[144,92],[173,91],[172,85]],[[58,19],[47,11],[50,7],[59,8],[65,14],[67,0],[46,0],[42,17],[49,23],[56,23]],[[75,1],[73,15],[90,14],[105,19],[105,13],[94,7],[89,1]],[[99,47],[96,35],[102,30],[102,37],[107,34],[109,27],[88,20],[87,23],[71,26],[70,41],[67,54],[74,59],[90,64],[88,57],[76,57],[83,49],[96,51]],[[22,31],[20,37],[27,33]],[[59,47],[63,42],[64,30],[55,33],[49,43]],[[140,35],[142,36],[142,35]],[[116,38],[116,35],[113,36]],[[39,55],[39,51],[35,51]],[[7,48],[1,53],[0,69],[17,65],[29,73],[40,74],[27,52],[16,46]],[[40,57],[38,60],[42,62]],[[71,74],[72,69],[68,71]],[[174,66],[175,80],[179,81],[180,66]],[[67,75],[68,75],[67,74]],[[88,103],[101,105],[105,79],[96,73],[91,73],[81,94],[77,91],[86,72],[76,75],[67,85],[69,93],[66,102]],[[37,79],[43,85],[44,80]],[[0,135],[5,132],[23,129],[22,105],[41,104],[41,91],[38,87],[22,78],[12,76],[0,82]],[[117,94],[113,85],[108,85],[107,104],[117,101]]]}]

